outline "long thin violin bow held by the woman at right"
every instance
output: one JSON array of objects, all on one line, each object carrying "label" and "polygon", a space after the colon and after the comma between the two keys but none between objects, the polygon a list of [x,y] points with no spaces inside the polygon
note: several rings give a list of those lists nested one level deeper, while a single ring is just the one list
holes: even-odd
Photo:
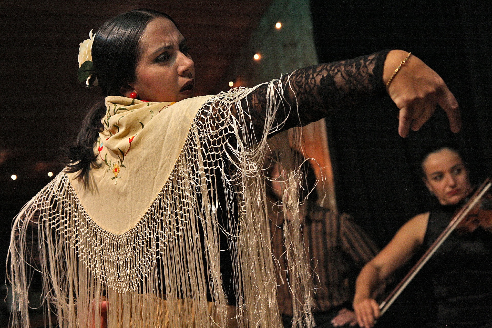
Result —
[{"label": "long thin violin bow held by the woman at right", "polygon": [[455,228],[460,224],[461,220],[466,217],[468,212],[473,209],[477,202],[482,198],[482,196],[489,190],[492,182],[491,179],[487,178],[480,188],[475,191],[470,200],[460,209],[460,211],[453,217],[449,225],[444,229],[444,231],[439,235],[437,239],[432,243],[431,247],[424,253],[419,261],[413,266],[413,268],[408,271],[408,273],[401,279],[400,283],[395,287],[395,289],[385,298],[384,301],[379,304],[379,311],[383,315],[386,310],[393,304],[395,299],[400,296],[401,292],[410,283],[410,281],[415,277],[415,275],[420,271],[420,269],[429,261],[432,254],[439,248],[439,246],[448,238],[448,236],[455,230]]}]

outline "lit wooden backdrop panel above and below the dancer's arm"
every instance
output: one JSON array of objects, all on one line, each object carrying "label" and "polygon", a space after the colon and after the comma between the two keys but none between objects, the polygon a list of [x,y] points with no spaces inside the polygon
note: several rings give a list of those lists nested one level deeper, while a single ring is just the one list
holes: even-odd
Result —
[{"label": "lit wooden backdrop panel above and below the dancer's arm", "polygon": [[[228,85],[230,88],[253,87],[317,63],[309,1],[274,0],[216,91]],[[316,189],[322,197],[318,202],[326,208],[337,210],[324,119],[303,127],[301,148],[298,150],[306,158],[311,158],[314,172],[320,178]]]}]

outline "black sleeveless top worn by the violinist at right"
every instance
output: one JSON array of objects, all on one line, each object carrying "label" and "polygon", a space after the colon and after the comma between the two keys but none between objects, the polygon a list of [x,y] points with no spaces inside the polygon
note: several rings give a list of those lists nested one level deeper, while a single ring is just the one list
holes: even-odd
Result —
[{"label": "black sleeveless top worn by the violinist at right", "polygon": [[[448,226],[456,206],[431,211],[424,247],[429,248]],[[437,299],[430,327],[492,327],[492,233],[481,227],[451,235],[428,263]]]}]

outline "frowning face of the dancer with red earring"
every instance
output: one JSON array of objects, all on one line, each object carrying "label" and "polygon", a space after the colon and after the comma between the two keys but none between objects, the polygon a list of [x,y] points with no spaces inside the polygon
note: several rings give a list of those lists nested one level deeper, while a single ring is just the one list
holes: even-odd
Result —
[{"label": "frowning face of the dancer with red earring", "polygon": [[[152,20],[140,39],[136,81],[129,86],[148,101],[180,101],[193,96],[195,65],[186,40],[167,18]],[[133,90],[128,90],[126,96]]]}]

